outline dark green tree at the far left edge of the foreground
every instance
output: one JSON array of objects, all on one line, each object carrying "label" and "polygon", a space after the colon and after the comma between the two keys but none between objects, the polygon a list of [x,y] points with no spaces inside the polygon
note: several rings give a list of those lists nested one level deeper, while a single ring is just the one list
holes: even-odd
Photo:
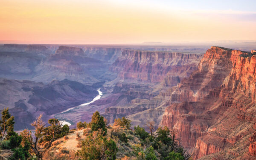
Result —
[{"label": "dark green tree at the far left edge of the foreground", "polygon": [[0,120],[0,140],[9,140],[9,138],[15,133],[14,123],[14,117],[9,114],[9,109],[3,109],[2,119]]}]

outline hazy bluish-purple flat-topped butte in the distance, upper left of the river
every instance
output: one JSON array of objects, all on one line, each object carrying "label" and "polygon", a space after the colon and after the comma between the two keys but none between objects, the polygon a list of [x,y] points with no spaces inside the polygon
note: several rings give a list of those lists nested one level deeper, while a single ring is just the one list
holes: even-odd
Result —
[{"label": "hazy bluish-purple flat-topped butte in the distance, upper left of the river", "polygon": [[99,82],[90,70],[101,70],[104,64],[86,57],[81,48],[60,46],[55,54],[50,55],[35,68],[37,73],[32,80],[49,83],[52,80],[73,80],[92,84]]}]

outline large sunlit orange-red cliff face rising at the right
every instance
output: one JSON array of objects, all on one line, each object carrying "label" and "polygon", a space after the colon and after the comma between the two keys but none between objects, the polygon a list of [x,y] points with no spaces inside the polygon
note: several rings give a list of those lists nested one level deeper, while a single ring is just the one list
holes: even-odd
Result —
[{"label": "large sunlit orange-red cliff face rising at the right", "polygon": [[170,101],[181,103],[166,108],[160,126],[175,129],[195,159],[208,154],[215,160],[250,159],[254,145],[249,137],[256,120],[255,68],[253,53],[211,47],[198,70],[171,89]]}]

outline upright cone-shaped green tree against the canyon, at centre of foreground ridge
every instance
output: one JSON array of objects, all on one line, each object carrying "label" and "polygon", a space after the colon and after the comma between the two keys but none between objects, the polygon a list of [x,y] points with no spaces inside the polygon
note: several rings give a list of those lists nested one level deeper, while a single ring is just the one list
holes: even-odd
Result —
[{"label": "upright cone-shaped green tree against the canyon, at centre of foreground ridge", "polygon": [[92,120],[90,122],[90,128],[93,131],[97,131],[98,129],[102,129],[103,136],[107,134],[107,129],[105,128],[104,117],[99,115],[99,111],[93,113]]}]

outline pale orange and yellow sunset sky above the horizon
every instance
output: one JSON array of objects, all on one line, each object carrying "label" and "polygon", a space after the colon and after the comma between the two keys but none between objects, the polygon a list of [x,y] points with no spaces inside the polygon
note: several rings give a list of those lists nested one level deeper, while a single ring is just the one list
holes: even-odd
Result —
[{"label": "pale orange and yellow sunset sky above the horizon", "polygon": [[0,0],[0,42],[256,40],[256,0]]}]

